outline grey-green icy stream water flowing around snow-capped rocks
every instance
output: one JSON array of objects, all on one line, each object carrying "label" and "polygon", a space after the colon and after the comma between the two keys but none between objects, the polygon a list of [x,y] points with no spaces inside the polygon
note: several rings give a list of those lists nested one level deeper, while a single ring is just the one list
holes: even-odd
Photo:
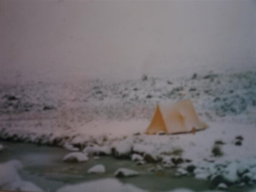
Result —
[{"label": "grey-green icy stream water flowing around snow-capped rocks", "polygon": [[[84,163],[66,163],[62,161],[67,150],[52,146],[41,146],[29,143],[14,143],[1,141],[6,147],[0,154],[0,162],[17,159],[24,169],[20,172],[24,180],[32,181],[41,189],[55,192],[67,184],[82,183],[101,178],[113,178],[116,169],[123,167],[140,172],[140,176],[120,179],[123,183],[129,183],[141,189],[155,191],[170,191],[176,188],[187,188],[194,191],[209,189],[208,181],[197,180],[193,177],[175,177],[172,169],[164,169],[161,172],[149,172],[147,169],[156,164],[137,166],[130,160],[119,160],[114,157],[100,157],[95,160],[90,158]],[[106,172],[100,175],[87,174],[87,170],[96,165],[103,164]],[[230,187],[230,192],[247,192],[251,188],[236,189]]]}]

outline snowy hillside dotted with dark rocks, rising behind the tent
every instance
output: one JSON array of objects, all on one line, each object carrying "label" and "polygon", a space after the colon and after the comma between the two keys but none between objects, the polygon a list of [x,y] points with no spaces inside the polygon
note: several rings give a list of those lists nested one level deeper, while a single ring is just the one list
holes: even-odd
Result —
[{"label": "snowy hillside dotted with dark rocks, rising behind the tent", "polygon": [[[91,80],[70,84],[0,86],[0,114],[52,118],[60,111],[69,118],[150,119],[158,102],[191,99],[207,121],[255,122],[256,72],[194,74],[183,79],[156,79],[111,83]],[[46,112],[47,111],[47,112]],[[46,113],[44,113],[46,112]],[[18,117],[17,117],[18,118]],[[24,118],[24,117],[22,117]]]}]

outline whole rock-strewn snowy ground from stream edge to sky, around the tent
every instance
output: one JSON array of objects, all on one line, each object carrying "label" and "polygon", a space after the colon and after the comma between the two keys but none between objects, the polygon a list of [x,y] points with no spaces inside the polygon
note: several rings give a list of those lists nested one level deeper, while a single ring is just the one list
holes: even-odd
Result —
[{"label": "whole rock-strewn snowy ground from stream edge to sky, around the tent", "polygon": [[[255,95],[256,72],[2,85],[0,139],[59,145],[89,158],[140,157],[140,162],[176,169],[177,177],[210,180],[212,189],[255,186]],[[158,102],[181,99],[192,100],[209,128],[195,134],[144,134]]]}]

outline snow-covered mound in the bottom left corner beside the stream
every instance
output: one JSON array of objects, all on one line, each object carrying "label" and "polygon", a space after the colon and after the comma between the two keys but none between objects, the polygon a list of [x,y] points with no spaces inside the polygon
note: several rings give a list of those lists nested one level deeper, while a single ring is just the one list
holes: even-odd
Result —
[{"label": "snow-covered mound in the bottom left corner beside the stream", "polygon": [[22,168],[23,166],[18,160],[10,160],[6,163],[0,163],[0,189],[9,191],[42,192],[42,189],[34,183],[24,181],[20,178],[18,171]]}]

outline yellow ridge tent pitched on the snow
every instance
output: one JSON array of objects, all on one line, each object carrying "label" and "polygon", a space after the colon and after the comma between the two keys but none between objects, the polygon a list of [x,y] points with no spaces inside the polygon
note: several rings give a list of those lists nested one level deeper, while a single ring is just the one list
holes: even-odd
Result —
[{"label": "yellow ridge tent pitched on the snow", "polygon": [[158,104],[146,134],[165,132],[166,134],[193,132],[207,128],[200,121],[190,100],[174,104]]}]

